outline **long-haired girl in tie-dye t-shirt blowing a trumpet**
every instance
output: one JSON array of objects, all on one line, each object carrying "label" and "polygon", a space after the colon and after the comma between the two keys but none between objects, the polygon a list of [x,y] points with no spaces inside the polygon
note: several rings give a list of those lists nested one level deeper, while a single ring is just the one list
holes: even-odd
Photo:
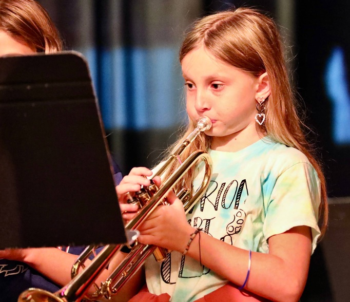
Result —
[{"label": "long-haired girl in tie-dye t-shirt blowing a trumpet", "polygon": [[[170,205],[140,226],[141,243],[172,252],[163,263],[146,261],[146,293],[132,301],[298,301],[326,228],[326,190],[297,115],[277,26],[249,8],[206,16],[186,35],[180,62],[189,117],[183,137],[200,116],[212,122],[181,160],[206,149],[213,174],[189,214],[170,193]],[[185,186],[196,188],[200,174],[201,167],[193,168]],[[151,175],[133,168],[117,187],[121,202],[126,192],[149,185],[144,176]],[[130,219],[134,206],[121,206]]]}]

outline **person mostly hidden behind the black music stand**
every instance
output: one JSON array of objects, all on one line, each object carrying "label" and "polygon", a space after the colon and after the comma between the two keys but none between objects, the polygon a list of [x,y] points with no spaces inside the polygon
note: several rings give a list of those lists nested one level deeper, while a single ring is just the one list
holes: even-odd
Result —
[{"label": "person mostly hidden behind the black music stand", "polygon": [[[52,54],[63,42],[46,10],[34,0],[0,0],[0,56]],[[113,164],[114,181],[121,180]],[[39,234],[40,235],[40,234]],[[85,247],[7,249],[0,251],[0,301],[17,301],[35,287],[55,292],[71,279],[71,268]]]}]

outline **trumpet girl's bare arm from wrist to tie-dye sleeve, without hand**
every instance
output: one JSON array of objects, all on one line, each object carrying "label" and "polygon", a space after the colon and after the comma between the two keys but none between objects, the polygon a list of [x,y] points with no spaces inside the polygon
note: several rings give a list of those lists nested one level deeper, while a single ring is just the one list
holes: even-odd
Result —
[{"label": "trumpet girl's bare arm from wrist to tie-dye sleeve, without hand", "polygon": [[[247,275],[249,252],[201,233],[188,255],[241,286]],[[245,290],[274,301],[298,301],[305,287],[311,255],[308,226],[297,226],[269,238],[269,254],[252,253]]]}]

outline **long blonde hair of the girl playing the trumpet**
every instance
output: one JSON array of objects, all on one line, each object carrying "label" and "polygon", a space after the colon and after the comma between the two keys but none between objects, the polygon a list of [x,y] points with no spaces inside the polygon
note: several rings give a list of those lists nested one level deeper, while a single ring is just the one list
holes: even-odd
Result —
[{"label": "long blonde hair of the girl playing the trumpet", "polygon": [[[188,52],[199,46],[206,47],[219,60],[255,77],[267,72],[270,96],[265,102],[266,120],[261,130],[273,140],[299,149],[316,169],[321,183],[319,213],[323,220],[321,229],[324,234],[328,220],[325,178],[303,132],[304,124],[298,116],[297,102],[289,83],[283,45],[275,22],[251,8],[218,12],[203,17],[193,25],[180,48],[180,62]],[[193,128],[193,123],[189,121],[187,130],[183,131],[174,145],[182,142]],[[184,159],[193,150],[208,147],[210,138],[203,134],[185,150],[182,157]],[[173,146],[168,152],[172,149]],[[177,165],[178,163],[174,163],[168,173],[171,174]],[[191,187],[193,177],[192,170],[184,181],[187,187]]]}]

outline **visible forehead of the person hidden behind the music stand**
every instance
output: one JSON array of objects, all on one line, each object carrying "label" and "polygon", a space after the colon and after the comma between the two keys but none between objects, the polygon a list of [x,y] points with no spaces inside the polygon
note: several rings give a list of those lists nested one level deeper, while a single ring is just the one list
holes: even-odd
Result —
[{"label": "visible forehead of the person hidden behind the music stand", "polygon": [[0,56],[3,55],[26,55],[35,51],[27,44],[13,39],[8,33],[0,30]]}]

